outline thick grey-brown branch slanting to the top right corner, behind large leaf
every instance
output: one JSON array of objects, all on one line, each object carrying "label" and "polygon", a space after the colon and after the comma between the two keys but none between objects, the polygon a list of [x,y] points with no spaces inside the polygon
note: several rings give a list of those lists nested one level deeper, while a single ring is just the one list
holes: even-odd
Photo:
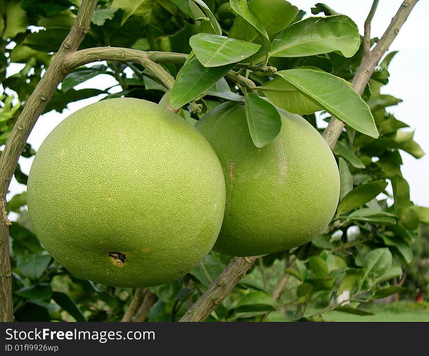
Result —
[{"label": "thick grey-brown branch slanting to the top right corner, behind large leaf", "polygon": [[[368,58],[362,60],[359,69],[353,77],[352,84],[353,89],[359,95],[362,95],[368,81],[371,78],[372,73],[375,70],[375,66],[383,57],[383,55],[388,50],[390,44],[395,39],[396,35],[399,33],[400,28],[407,20],[409,13],[415,6],[418,0],[405,0],[399,10],[396,12],[396,15],[392,18],[390,25],[386,29],[385,33],[381,39],[377,42],[377,45],[372,51]],[[344,129],[344,122],[339,121],[335,118],[332,118],[329,121],[328,127],[323,132],[323,138],[325,138],[328,145],[332,148],[337,139],[340,137]]]}]

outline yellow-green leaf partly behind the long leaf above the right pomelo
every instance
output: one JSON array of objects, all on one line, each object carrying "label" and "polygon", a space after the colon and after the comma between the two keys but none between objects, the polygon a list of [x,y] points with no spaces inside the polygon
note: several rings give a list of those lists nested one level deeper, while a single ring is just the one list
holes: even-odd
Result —
[{"label": "yellow-green leaf partly behind the long leaf above the right pomelo", "polygon": [[312,114],[322,108],[281,77],[262,86],[262,92],[274,105],[294,114]]}]

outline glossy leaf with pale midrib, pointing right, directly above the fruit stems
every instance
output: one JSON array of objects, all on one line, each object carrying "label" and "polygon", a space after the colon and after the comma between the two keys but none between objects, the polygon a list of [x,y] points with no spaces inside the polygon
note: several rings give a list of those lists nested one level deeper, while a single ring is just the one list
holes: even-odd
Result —
[{"label": "glossy leaf with pale midrib, pointing right, directly above the fruit stems", "polygon": [[219,67],[239,62],[252,56],[261,47],[259,44],[208,33],[192,36],[189,44],[204,67]]}]

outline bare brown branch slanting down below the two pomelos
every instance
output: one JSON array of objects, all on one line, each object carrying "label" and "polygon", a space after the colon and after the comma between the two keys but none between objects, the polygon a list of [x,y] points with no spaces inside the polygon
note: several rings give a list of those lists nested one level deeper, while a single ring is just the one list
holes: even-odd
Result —
[{"label": "bare brown branch slanting down below the two pomelos", "polygon": [[234,257],[179,321],[204,321],[246,275],[256,257]]}]

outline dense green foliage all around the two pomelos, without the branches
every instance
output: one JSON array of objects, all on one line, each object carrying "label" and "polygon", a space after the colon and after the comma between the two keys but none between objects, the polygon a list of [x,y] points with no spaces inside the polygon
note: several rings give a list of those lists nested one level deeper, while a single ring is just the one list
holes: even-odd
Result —
[{"label": "dense green foliage all around the two pomelos, without the branches", "polygon": [[[0,144],[6,141],[22,105],[67,35],[79,3],[78,0],[0,1],[3,87]],[[241,16],[236,17],[231,7]],[[283,15],[278,18],[280,10]],[[352,96],[344,97],[351,98],[352,104],[332,106],[332,98],[317,92],[317,85],[316,91],[306,92],[301,84],[331,80],[332,86],[341,85],[342,92],[351,91],[349,84],[341,79],[350,81],[356,72],[362,59],[362,41],[356,25],[328,6],[317,4],[312,13],[327,17],[299,21],[304,12],[283,0],[253,0],[249,6],[243,5],[243,1],[222,0],[205,3],[100,0],[81,48],[118,46],[145,51],[193,51],[195,57],[183,67],[183,63],[163,64],[177,77],[171,92],[136,64],[108,61],[78,68],[66,76],[45,110],[61,112],[70,102],[99,94],[105,95],[103,99],[125,96],[159,102],[168,93],[163,102],[171,95],[170,104],[174,108],[183,106],[179,115],[191,124],[226,100],[242,102],[246,98],[246,105],[270,105],[269,111],[273,106],[267,101],[261,104],[250,90],[229,77],[223,78],[242,61],[248,67],[254,66],[253,71],[244,70],[241,74],[254,81],[259,96],[302,114],[320,132],[323,129],[318,127],[320,120],[315,112],[325,121],[332,113],[344,116],[342,119],[348,126],[333,148],[341,175],[341,198],[331,224],[310,243],[259,257],[233,293],[212,313],[211,320],[270,320],[274,311],[277,315],[281,312],[285,320],[319,320],[330,310],[366,315],[370,313],[362,307],[366,302],[398,292],[414,298],[418,289],[429,293],[428,264],[421,263],[429,257],[429,230],[425,225],[429,224],[429,210],[416,207],[409,200],[409,186],[401,174],[401,151],[415,158],[424,153],[414,142],[413,132],[404,130],[408,125],[387,110],[401,99],[380,92],[389,81],[388,67],[395,53],[389,53],[372,75],[363,95],[368,106],[362,106],[360,99]],[[276,21],[270,23],[273,17]],[[328,33],[328,40],[317,38],[318,31]],[[302,46],[298,34],[301,40],[312,38],[313,47]],[[228,40],[216,38],[220,42],[213,43],[212,35],[228,36]],[[236,48],[241,52],[235,53]],[[214,58],[211,56],[214,50],[221,50],[225,56]],[[277,68],[276,75],[264,66],[267,59],[268,66]],[[11,63],[25,66],[6,78],[5,70]],[[190,77],[192,70],[204,71],[204,79],[195,81]],[[100,74],[114,77],[120,91],[75,89],[79,83]],[[191,84],[191,93],[184,95],[182,87]],[[362,108],[359,117],[367,118],[365,124],[353,121],[355,115],[348,111],[357,107]],[[256,127],[263,126],[264,118],[255,120]],[[267,132],[250,132],[255,145],[262,147],[278,133],[275,114],[271,120],[274,124]],[[22,156],[34,154],[27,144]],[[27,182],[19,166],[15,178],[22,184]],[[387,190],[388,182],[392,195]],[[10,226],[15,318],[120,320],[135,292],[79,279],[58,265],[32,233],[25,204],[25,193],[8,202],[8,211],[20,215]],[[156,302],[148,320],[178,320],[229,259],[211,252],[185,277],[150,288]],[[405,272],[406,289],[398,285]],[[277,300],[272,292],[282,277],[287,278],[287,287]],[[348,303],[333,304],[332,300],[344,291],[350,291]]]}]

